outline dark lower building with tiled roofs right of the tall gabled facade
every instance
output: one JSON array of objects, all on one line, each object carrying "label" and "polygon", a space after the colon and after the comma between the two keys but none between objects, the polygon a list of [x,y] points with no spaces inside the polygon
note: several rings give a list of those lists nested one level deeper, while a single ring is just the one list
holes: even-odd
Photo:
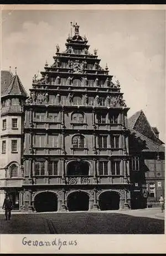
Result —
[{"label": "dark lower building with tiled roofs right of the tall gabled facade", "polygon": [[149,124],[142,110],[128,119],[128,128],[131,207],[158,206],[165,186],[165,147],[159,131]]}]

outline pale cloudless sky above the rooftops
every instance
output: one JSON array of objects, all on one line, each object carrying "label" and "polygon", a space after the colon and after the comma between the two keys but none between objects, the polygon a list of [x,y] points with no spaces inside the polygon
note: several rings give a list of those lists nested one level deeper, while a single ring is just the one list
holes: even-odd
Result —
[{"label": "pale cloudless sky above the rooftops", "polygon": [[34,74],[54,63],[70,33],[80,25],[90,53],[98,49],[101,66],[121,84],[128,117],[143,110],[165,141],[165,12],[162,10],[2,11],[1,70],[17,73],[29,93]]}]

